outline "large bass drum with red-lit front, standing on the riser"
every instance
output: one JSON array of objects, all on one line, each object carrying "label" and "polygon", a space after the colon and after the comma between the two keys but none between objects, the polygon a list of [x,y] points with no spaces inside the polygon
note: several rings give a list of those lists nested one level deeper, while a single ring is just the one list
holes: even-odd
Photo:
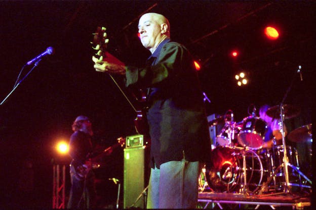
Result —
[{"label": "large bass drum with red-lit front, standing on the riser", "polygon": [[215,192],[253,193],[261,186],[263,166],[254,151],[220,146],[212,150],[210,159],[206,164],[206,178],[209,187]]}]

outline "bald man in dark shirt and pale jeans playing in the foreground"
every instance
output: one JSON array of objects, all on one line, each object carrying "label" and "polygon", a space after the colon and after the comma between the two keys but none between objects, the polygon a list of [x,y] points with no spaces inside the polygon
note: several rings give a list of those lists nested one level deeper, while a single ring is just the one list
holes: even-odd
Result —
[{"label": "bald man in dark shirt and pale jeans playing in the foreground", "polygon": [[151,138],[147,208],[195,208],[199,175],[211,147],[193,59],[183,45],[170,40],[169,21],[161,14],[144,14],[138,32],[151,53],[144,67],[93,58],[94,68],[125,75],[129,88],[147,89]]}]

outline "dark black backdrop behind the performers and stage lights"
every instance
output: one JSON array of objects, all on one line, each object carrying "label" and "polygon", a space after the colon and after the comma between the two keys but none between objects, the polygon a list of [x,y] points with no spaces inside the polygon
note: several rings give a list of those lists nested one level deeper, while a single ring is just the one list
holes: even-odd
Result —
[{"label": "dark black backdrop behind the performers and stage lights", "polygon": [[[2,1],[1,101],[27,61],[48,46],[56,51],[0,106],[4,206],[52,206],[52,163],[69,162],[68,156],[56,154],[55,144],[68,141],[76,116],[91,118],[95,142],[104,147],[136,134],[135,112],[109,76],[93,69],[90,41],[97,26],[105,26],[109,51],[126,64],[142,65],[149,51],[138,40],[137,25],[145,11],[165,15],[172,39],[186,45],[202,65],[201,85],[211,100],[208,115],[230,109],[239,122],[249,116],[250,104],[257,110],[264,103],[276,106],[288,90],[284,104],[301,110],[286,120],[289,132],[312,122],[316,24],[311,1]],[[279,29],[279,39],[263,35],[269,24]],[[232,49],[240,51],[238,58],[229,55]],[[299,65],[303,81],[296,73]],[[22,77],[30,69],[25,67]],[[250,79],[243,87],[234,80],[241,70]],[[115,203],[117,185],[108,178],[123,182],[123,149],[105,158],[96,174],[100,202]],[[68,169],[66,181],[68,196]]]}]

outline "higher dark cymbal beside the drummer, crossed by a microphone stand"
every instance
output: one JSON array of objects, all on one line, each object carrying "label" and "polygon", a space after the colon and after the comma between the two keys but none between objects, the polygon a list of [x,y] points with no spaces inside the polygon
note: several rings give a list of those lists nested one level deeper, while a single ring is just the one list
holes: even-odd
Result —
[{"label": "higher dark cymbal beside the drummer, crossed by a microphone stand", "polygon": [[[290,104],[284,104],[283,105],[283,115],[284,115],[284,119],[290,119],[290,118],[294,118],[297,117],[300,114],[300,109],[297,108],[294,105],[290,105]],[[271,117],[271,118],[275,118],[275,119],[279,119],[280,118],[280,106],[274,106],[274,107],[270,107],[267,112],[266,112],[267,116]]]}]

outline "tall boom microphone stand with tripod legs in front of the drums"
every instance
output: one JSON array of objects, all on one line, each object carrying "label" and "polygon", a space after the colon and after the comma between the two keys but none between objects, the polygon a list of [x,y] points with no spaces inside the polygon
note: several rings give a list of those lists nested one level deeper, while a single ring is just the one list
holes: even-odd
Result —
[{"label": "tall boom microphone stand with tripod legs in front of the drums", "polygon": [[[301,69],[301,66],[299,66],[299,70],[296,73],[300,73],[300,69]],[[301,73],[300,73],[301,75]],[[282,145],[283,145],[283,163],[274,171],[274,173],[272,174],[271,177],[268,178],[268,180],[262,185],[262,188],[261,190],[259,191],[259,193],[261,193],[262,191],[264,191],[266,188],[267,188],[267,185],[270,183],[271,179],[275,177],[275,175],[277,174],[277,172],[281,169],[281,167],[283,167],[283,170],[284,170],[284,173],[282,173],[284,175],[284,178],[285,178],[285,188],[284,188],[284,191],[283,192],[280,192],[280,193],[273,193],[273,195],[275,194],[284,194],[284,193],[290,193],[291,194],[291,186],[295,186],[295,184],[292,184],[290,183],[289,181],[289,172],[288,172],[288,166],[290,166],[292,169],[294,169],[298,174],[299,176],[302,176],[304,177],[304,179],[306,181],[308,181],[310,184],[312,184],[312,182],[295,166],[293,166],[292,164],[290,164],[288,162],[288,155],[287,155],[287,147],[286,147],[286,143],[285,143],[285,130],[284,130],[284,118],[285,118],[285,115],[283,114],[283,111],[284,111],[284,107],[283,107],[283,103],[293,85],[293,82],[294,82],[294,79],[295,77],[293,77],[292,81],[291,81],[291,84],[290,86],[288,87],[283,99],[282,99],[282,102],[280,104],[280,118],[281,118],[281,134],[282,134]],[[302,81],[302,77],[301,77],[301,81]],[[273,116],[274,118],[275,116]],[[306,187],[306,188],[311,188],[311,186],[307,186],[307,185],[301,185],[301,179],[299,178],[300,180],[300,184],[299,186],[302,188],[302,187]],[[269,194],[269,195],[272,195],[272,194]],[[266,195],[268,196],[268,195]]]}]

